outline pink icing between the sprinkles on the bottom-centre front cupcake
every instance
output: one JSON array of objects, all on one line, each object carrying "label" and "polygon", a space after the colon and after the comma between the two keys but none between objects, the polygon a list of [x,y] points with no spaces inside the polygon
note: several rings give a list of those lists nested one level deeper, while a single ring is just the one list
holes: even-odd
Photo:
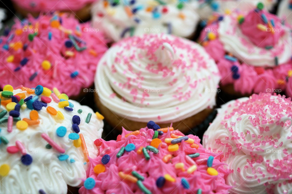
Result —
[{"label": "pink icing between the sprinkles on the bottom-centre front cupcake", "polygon": [[[131,173],[131,171],[136,171],[140,175],[144,176],[143,184],[149,189],[153,194],[162,193],[196,193],[198,189],[202,189],[203,194],[211,193],[222,193],[225,194],[231,188],[225,184],[224,176],[229,172],[224,169],[224,163],[219,162],[219,155],[208,152],[200,144],[200,139],[194,135],[188,135],[189,138],[194,139],[194,144],[198,145],[198,149],[191,148],[191,145],[187,142],[181,142],[179,149],[175,152],[169,152],[166,143],[164,143],[165,138],[170,138],[171,134],[182,135],[178,130],[169,131],[163,135],[158,135],[158,138],[162,141],[162,144],[158,147],[159,152],[157,154],[149,152],[150,159],[147,161],[142,154],[137,154],[137,150],[140,146],[146,147],[150,145],[154,131],[148,128],[142,128],[139,130],[138,135],[129,135],[127,138],[126,134],[130,133],[123,129],[122,135],[119,135],[117,141],[104,141],[103,139],[98,139],[101,143],[99,153],[95,159],[90,158],[89,168],[87,170],[87,177],[91,177],[95,180],[96,185],[93,189],[85,189],[82,186],[79,189],[80,194],[99,194],[99,193],[121,193],[130,194],[137,193],[142,194],[143,192],[139,189],[136,183],[130,182],[128,180],[123,180],[118,175],[119,172]],[[116,157],[120,148],[126,146],[129,143],[133,143],[136,149],[130,152],[125,151],[120,158]],[[186,154],[200,153],[199,157],[186,159]],[[104,154],[110,156],[110,161],[105,164],[105,172],[99,173],[98,175],[93,171],[93,168],[97,164],[102,164],[101,159]],[[172,155],[171,162],[163,162],[163,157],[167,154]],[[101,156],[102,155],[102,156]],[[207,159],[209,156],[214,156],[212,168],[218,171],[217,176],[211,176],[207,173]],[[182,162],[184,164],[184,169],[176,169],[175,164]],[[186,170],[196,164],[197,169],[188,174]],[[158,188],[156,186],[156,180],[160,176],[169,174],[174,179],[175,182],[170,182],[165,180],[164,186]],[[181,179],[185,178],[189,182],[189,189],[184,189],[181,184]]]}]

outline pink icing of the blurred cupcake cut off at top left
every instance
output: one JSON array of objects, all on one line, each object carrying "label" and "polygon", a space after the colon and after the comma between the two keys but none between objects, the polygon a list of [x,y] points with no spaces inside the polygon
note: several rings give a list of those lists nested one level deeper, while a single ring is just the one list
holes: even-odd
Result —
[{"label": "pink icing of the blurred cupcake cut off at top left", "polygon": [[77,11],[95,0],[12,0],[32,12]]}]

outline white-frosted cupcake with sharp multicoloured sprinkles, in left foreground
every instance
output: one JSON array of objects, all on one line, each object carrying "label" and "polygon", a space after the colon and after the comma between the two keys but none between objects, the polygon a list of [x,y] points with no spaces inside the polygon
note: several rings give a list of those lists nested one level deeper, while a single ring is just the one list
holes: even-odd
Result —
[{"label": "white-frosted cupcake with sharp multicoloured sprinkles, in left foreground", "polygon": [[102,115],[41,85],[5,85],[0,123],[1,194],[65,194],[67,185],[80,186],[103,131]]}]

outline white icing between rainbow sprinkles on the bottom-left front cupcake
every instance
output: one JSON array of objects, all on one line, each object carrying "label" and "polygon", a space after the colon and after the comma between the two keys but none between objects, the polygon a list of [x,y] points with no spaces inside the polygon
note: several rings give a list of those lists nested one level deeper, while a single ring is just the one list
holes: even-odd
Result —
[{"label": "white icing between rainbow sprinkles on the bottom-left front cupcake", "polygon": [[[21,89],[14,90],[14,95],[17,93],[25,93]],[[33,95],[34,96],[34,95]],[[40,97],[39,97],[40,100]],[[95,157],[96,146],[93,141],[100,138],[103,131],[103,121],[96,118],[95,113],[87,106],[82,106],[78,102],[69,100],[74,104],[73,111],[66,111],[64,108],[59,108],[58,103],[50,102],[48,106],[53,107],[57,111],[61,111],[64,115],[64,120],[56,119],[56,116],[50,115],[46,107],[43,107],[39,113],[39,125],[29,125],[24,131],[20,131],[16,128],[16,122],[13,122],[12,132],[7,132],[7,122],[1,123],[0,136],[4,136],[9,140],[9,143],[5,145],[0,144],[0,166],[2,164],[9,164],[10,172],[7,176],[0,176],[0,193],[21,193],[30,194],[38,193],[40,189],[43,189],[46,193],[67,193],[67,185],[78,187],[82,183],[82,179],[86,178],[85,170],[88,164],[84,165],[85,159],[82,148],[76,148],[73,145],[73,140],[68,138],[72,130],[72,117],[74,115],[80,116],[81,123],[79,125],[80,133],[84,135],[86,146],[90,157]],[[1,105],[0,112],[5,107]],[[82,109],[82,113],[77,112],[78,109]],[[30,109],[20,109],[20,117],[30,118]],[[92,113],[91,120],[87,124],[85,119],[88,113]],[[7,114],[8,115],[8,114]],[[7,116],[6,115],[6,116]],[[64,137],[58,137],[56,135],[56,129],[59,126],[64,126],[67,129],[67,133]],[[46,149],[48,144],[41,134],[46,133],[54,140],[59,146],[64,148],[69,158],[65,161],[60,161],[58,156],[61,153],[57,152],[54,148]],[[79,134],[80,134],[79,133]],[[20,161],[21,153],[10,154],[6,151],[8,146],[15,146],[16,140],[23,143],[28,154],[33,158],[33,162],[29,166],[23,165]],[[75,162],[71,163],[70,159],[74,159]]]}]

